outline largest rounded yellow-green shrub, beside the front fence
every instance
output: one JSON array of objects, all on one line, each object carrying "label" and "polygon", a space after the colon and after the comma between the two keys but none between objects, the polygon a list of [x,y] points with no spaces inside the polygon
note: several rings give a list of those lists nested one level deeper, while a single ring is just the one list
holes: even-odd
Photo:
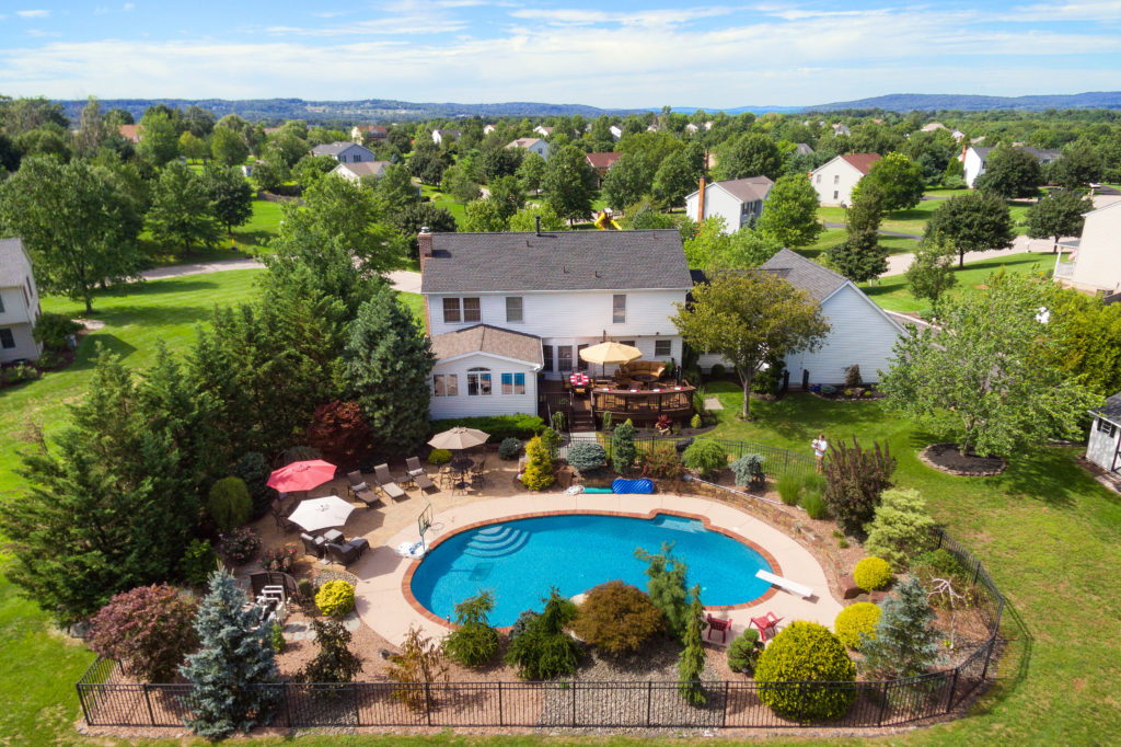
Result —
[{"label": "largest rounded yellow-green shrub, beside the front fence", "polygon": [[837,719],[847,712],[855,690],[768,686],[781,682],[853,682],[856,666],[844,644],[816,622],[795,620],[759,656],[759,699],[778,716],[803,721]]}]

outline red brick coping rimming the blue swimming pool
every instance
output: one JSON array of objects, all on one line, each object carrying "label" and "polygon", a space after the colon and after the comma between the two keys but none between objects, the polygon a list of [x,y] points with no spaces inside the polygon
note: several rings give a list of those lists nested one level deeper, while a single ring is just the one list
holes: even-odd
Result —
[{"label": "red brick coping rimming the blue swimming pool", "polygon": [[[435,547],[437,547],[445,541],[456,535],[463,534],[464,532],[471,532],[472,529],[478,529],[479,527],[483,526],[491,526],[493,524],[504,524],[506,522],[517,522],[520,519],[528,519],[528,518],[544,518],[547,516],[621,516],[624,518],[639,518],[649,520],[655,518],[659,514],[701,522],[701,525],[704,526],[704,528],[707,529],[708,532],[716,532],[719,534],[724,535],[725,537],[743,543],[748,547],[751,547],[751,550],[762,555],[763,560],[767,561],[767,563],[771,568],[771,571],[776,575],[782,575],[782,566],[779,564],[778,559],[776,559],[775,555],[770,553],[770,551],[768,551],[759,543],[753,542],[752,540],[749,540],[735,532],[732,532],[731,529],[725,529],[724,527],[715,526],[707,516],[704,516],[702,514],[693,514],[689,511],[676,510],[673,508],[660,508],[660,507],[652,508],[646,514],[636,511],[612,511],[612,510],[603,510],[594,508],[589,508],[589,509],[575,508],[575,509],[553,510],[553,511],[530,511],[524,514],[512,514],[510,516],[500,516],[492,519],[472,522],[470,524],[463,525],[462,527],[457,527],[454,532],[448,532],[447,534],[443,534],[433,540],[428,544],[428,552],[430,553]],[[455,622],[451,622],[447,619],[429,610],[427,607],[421,605],[420,601],[413,593],[413,577],[417,572],[417,569],[420,568],[421,562],[424,562],[424,557],[415,559],[409,563],[408,568],[405,569],[405,575],[401,577],[401,594],[405,597],[405,601],[409,603],[409,607],[411,607],[414,611],[418,612],[426,619],[436,622],[437,625],[441,625],[450,630],[455,630],[456,628],[460,627],[458,625],[456,625]],[[705,609],[714,611],[747,609],[749,607],[754,607],[757,605],[761,605],[768,601],[771,597],[773,597],[777,593],[778,593],[778,588],[771,584],[768,587],[767,591],[765,591],[762,594],[749,601],[741,602],[739,605],[705,605]],[[512,627],[513,626],[504,626],[498,628],[498,630],[509,631]]]}]

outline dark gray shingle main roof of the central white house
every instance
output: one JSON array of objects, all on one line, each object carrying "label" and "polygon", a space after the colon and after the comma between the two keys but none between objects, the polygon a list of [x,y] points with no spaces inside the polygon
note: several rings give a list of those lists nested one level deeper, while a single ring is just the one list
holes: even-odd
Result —
[{"label": "dark gray shingle main roof of the central white house", "polygon": [[421,293],[680,289],[693,286],[676,229],[434,233]]}]

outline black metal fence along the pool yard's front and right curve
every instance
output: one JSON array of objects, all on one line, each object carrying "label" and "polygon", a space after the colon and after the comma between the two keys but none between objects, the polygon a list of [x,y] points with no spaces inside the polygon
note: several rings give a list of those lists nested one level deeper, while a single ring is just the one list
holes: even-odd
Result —
[{"label": "black metal fence along the pool yard's front and right curve", "polygon": [[[999,639],[1004,598],[981,562],[943,532],[938,546],[962,564],[973,599],[989,628],[957,666],[883,682],[703,682],[706,702],[693,707],[677,682],[451,682],[399,684],[276,683],[272,723],[311,727],[702,727],[796,728],[888,727],[938,718],[954,710],[989,674]],[[111,660],[99,658],[77,683],[91,726],[182,727],[192,712],[189,684],[132,684],[121,681]],[[796,698],[793,693],[797,693]],[[840,718],[806,718],[817,695],[847,693]],[[797,708],[777,712],[777,695]]]}]

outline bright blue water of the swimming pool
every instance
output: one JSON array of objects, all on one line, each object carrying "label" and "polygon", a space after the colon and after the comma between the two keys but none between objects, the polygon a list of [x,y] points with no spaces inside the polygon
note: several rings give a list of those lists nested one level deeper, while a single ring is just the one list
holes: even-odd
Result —
[{"label": "bright blue water of the swimming pool", "polygon": [[688,566],[688,583],[701,584],[706,606],[742,605],[770,588],[756,571],[772,570],[748,545],[701,522],[659,514],[652,519],[566,514],[501,522],[448,537],[436,545],[413,575],[413,594],[443,618],[455,603],[489,589],[494,592],[493,626],[513,625],[526,609],[541,609],[556,585],[565,597],[621,579],[646,590],[647,563],[634,548],[674,555]]}]

